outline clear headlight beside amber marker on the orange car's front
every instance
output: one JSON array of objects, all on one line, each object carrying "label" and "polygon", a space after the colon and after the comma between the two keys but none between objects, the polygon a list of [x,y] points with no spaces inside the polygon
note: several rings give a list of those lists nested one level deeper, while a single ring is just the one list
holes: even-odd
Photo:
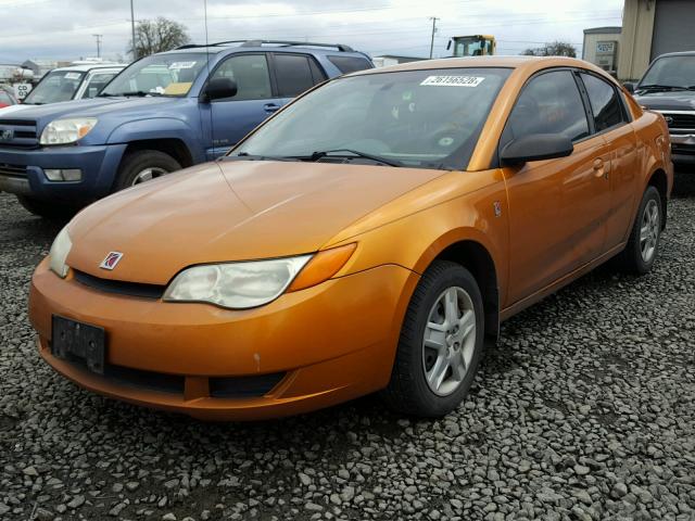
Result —
[{"label": "clear headlight beside amber marker on the orange car's front", "polygon": [[312,255],[193,266],[181,271],[164,292],[165,301],[208,302],[245,309],[280,296]]}]

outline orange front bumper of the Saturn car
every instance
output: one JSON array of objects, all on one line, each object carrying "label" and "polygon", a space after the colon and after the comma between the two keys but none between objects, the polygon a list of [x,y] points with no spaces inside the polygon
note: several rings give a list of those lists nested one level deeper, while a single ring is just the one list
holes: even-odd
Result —
[{"label": "orange front bumper of the Saturn car", "polygon": [[[387,385],[417,274],[387,265],[227,310],[103,293],[63,280],[43,260],[29,295],[39,352],[58,372],[100,394],[204,420],[256,420],[305,412]],[[103,327],[113,367],[180,376],[181,393],[125,384],[51,354],[51,317]],[[213,397],[217,378],[283,373],[256,396]]]}]

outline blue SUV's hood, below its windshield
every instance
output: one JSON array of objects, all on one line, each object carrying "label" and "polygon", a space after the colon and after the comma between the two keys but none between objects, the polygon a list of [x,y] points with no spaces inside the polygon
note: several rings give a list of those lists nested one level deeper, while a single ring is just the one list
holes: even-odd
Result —
[{"label": "blue SUV's hood, below its windshield", "polygon": [[91,100],[62,101],[46,105],[22,105],[20,119],[38,122],[39,128],[59,117],[97,117],[112,113],[141,118],[180,103],[181,98],[93,98]]}]

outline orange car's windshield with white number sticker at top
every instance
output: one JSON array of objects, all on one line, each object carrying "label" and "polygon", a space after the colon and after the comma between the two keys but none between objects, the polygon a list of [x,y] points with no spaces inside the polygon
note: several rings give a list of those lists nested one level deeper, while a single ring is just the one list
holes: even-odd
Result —
[{"label": "orange car's windshield with white number sticker at top", "polygon": [[329,155],[321,152],[358,152],[404,166],[464,168],[508,75],[444,68],[344,77],[295,101],[230,155],[316,160]]}]

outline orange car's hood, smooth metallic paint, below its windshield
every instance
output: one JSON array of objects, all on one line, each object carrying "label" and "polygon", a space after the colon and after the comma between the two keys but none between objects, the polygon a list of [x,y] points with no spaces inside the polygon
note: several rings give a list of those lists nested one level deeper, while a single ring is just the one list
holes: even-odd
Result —
[{"label": "orange car's hood, smooth metallic paint, below its windshield", "polygon": [[[195,264],[298,255],[442,170],[301,162],[217,162],[87,207],[70,224],[67,264],[90,275],[166,284]],[[113,271],[99,268],[123,253]]]}]

